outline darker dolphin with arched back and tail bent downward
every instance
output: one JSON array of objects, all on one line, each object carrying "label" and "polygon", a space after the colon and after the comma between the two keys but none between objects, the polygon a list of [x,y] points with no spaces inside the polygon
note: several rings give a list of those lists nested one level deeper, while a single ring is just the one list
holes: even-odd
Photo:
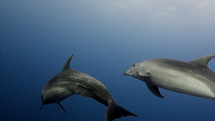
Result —
[{"label": "darker dolphin with arched back and tail bent downward", "polygon": [[117,105],[107,88],[100,81],[85,73],[70,69],[72,57],[73,55],[68,58],[63,70],[49,80],[43,89],[41,108],[45,104],[56,103],[66,112],[60,102],[69,96],[77,94],[93,98],[107,106],[106,121],[113,121],[116,118],[125,116],[137,116]]}]

